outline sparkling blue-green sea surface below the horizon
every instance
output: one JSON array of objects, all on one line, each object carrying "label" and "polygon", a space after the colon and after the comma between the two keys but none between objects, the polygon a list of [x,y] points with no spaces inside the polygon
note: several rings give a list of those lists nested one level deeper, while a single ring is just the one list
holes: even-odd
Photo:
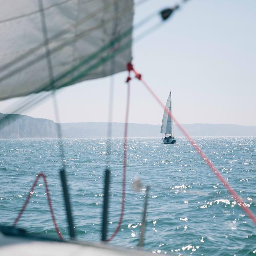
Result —
[{"label": "sparkling blue-green sea surface below the horizon", "polygon": [[[256,137],[194,138],[256,214]],[[79,240],[101,237],[104,170],[111,169],[108,236],[121,208],[123,139],[65,139],[65,166],[72,212]],[[185,138],[162,144],[161,138],[129,138],[126,205],[120,231],[112,245],[136,248],[149,185],[144,249],[170,255],[256,255],[256,226],[226,191]],[[12,225],[36,178],[44,172],[58,227],[68,238],[59,170],[58,140],[0,140],[0,224]],[[140,178],[143,189],[133,192]],[[39,180],[17,226],[57,238]]]}]

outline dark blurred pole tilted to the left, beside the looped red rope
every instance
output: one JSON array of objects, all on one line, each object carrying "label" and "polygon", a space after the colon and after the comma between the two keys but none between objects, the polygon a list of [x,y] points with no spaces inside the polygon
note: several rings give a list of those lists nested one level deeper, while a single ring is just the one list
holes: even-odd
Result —
[{"label": "dark blurred pole tilted to the left, beside the looped red rope", "polygon": [[66,180],[66,172],[65,169],[60,170],[60,178],[62,182],[62,188],[63,188],[63,195],[64,195],[64,201],[66,206],[66,213],[68,218],[68,229],[69,229],[69,235],[70,239],[74,239],[76,237],[75,230],[74,230],[74,224],[73,224],[73,218],[71,213],[71,206],[70,206],[70,200],[68,195],[68,185]]}]

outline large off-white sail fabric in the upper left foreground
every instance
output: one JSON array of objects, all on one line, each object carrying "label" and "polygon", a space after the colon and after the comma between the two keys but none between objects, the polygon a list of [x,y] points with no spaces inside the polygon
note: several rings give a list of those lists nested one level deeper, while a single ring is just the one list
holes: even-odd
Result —
[{"label": "large off-white sail fabric in the upper left foreground", "polygon": [[0,0],[0,100],[126,70],[133,0]]}]

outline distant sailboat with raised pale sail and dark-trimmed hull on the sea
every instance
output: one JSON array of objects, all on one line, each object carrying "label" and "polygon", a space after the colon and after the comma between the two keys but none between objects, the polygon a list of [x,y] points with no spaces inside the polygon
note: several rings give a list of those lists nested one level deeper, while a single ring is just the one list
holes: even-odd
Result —
[{"label": "distant sailboat with raised pale sail and dark-trimmed hull on the sea", "polygon": [[[170,110],[172,113],[172,91],[170,91],[169,97],[166,102],[166,108]],[[163,138],[164,144],[175,144],[176,139],[174,139],[173,136],[173,131],[172,131],[172,119],[170,116],[168,116],[168,113],[164,111],[164,116],[162,120],[162,127],[161,127],[161,132],[164,133],[165,137]]]}]

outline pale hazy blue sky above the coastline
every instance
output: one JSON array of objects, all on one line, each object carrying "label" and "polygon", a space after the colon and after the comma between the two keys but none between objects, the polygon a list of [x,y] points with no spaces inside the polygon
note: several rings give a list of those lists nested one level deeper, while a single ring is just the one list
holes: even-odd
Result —
[{"label": "pale hazy blue sky above the coastline", "polygon": [[[134,22],[172,3],[148,0],[135,8]],[[134,43],[133,63],[164,103],[172,90],[179,122],[256,125],[255,25],[255,0],[190,0]],[[114,122],[124,122],[126,76],[114,78]],[[109,84],[108,77],[59,90],[60,121],[106,122]],[[160,124],[163,110],[143,85],[134,80],[131,90],[129,121]],[[0,112],[15,101],[0,102]],[[52,100],[22,114],[54,120]]]}]

